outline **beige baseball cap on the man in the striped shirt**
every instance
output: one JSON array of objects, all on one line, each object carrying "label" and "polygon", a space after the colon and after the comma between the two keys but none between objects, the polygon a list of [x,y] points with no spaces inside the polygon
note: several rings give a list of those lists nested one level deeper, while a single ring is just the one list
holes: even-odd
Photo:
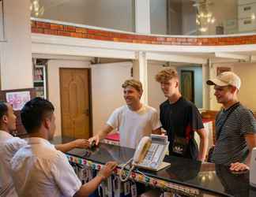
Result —
[{"label": "beige baseball cap on the man in the striped shirt", "polygon": [[222,72],[220,75],[216,76],[215,79],[210,79],[206,81],[208,85],[217,85],[217,86],[228,86],[232,85],[238,90],[241,87],[241,80],[234,72]]}]

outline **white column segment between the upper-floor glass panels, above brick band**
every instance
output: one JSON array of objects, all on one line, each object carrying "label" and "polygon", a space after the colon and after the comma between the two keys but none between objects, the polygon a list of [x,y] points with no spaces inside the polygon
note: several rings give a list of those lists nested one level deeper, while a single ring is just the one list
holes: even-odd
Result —
[{"label": "white column segment between the upper-floor glass panels, above brick band", "polygon": [[150,34],[150,0],[135,0],[135,32]]}]

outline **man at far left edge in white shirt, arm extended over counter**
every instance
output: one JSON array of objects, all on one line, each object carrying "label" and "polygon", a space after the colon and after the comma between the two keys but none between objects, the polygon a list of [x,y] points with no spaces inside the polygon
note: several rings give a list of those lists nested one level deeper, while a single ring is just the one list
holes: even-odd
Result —
[{"label": "man at far left edge in white shirt, arm extended over counter", "polygon": [[[13,107],[0,102],[0,196],[16,197],[17,193],[10,175],[9,162],[13,155],[27,145],[24,139],[13,137],[9,132],[16,130],[16,116]],[[58,151],[66,152],[75,147],[88,147],[88,140],[77,139],[70,143],[56,145]]]}]

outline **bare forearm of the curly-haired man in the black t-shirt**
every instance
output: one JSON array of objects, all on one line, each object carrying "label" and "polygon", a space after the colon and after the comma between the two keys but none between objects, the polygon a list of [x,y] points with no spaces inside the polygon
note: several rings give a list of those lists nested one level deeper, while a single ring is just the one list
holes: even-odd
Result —
[{"label": "bare forearm of the curly-haired man in the black t-shirt", "polygon": [[204,162],[207,154],[208,143],[209,143],[208,135],[207,135],[207,132],[205,131],[205,128],[198,129],[196,130],[196,132],[200,137],[198,160],[201,162]]}]

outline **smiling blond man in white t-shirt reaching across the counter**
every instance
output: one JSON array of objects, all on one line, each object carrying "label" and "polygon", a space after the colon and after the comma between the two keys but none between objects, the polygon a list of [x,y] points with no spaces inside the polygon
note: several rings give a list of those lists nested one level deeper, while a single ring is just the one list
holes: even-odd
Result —
[{"label": "smiling blond man in white t-shirt reaching across the counter", "polygon": [[126,80],[122,87],[126,105],[111,114],[104,128],[89,139],[91,143],[96,141],[97,145],[113,129],[120,132],[120,146],[130,148],[136,148],[143,136],[160,134],[161,125],[156,110],[140,101],[143,92],[141,82]]}]

